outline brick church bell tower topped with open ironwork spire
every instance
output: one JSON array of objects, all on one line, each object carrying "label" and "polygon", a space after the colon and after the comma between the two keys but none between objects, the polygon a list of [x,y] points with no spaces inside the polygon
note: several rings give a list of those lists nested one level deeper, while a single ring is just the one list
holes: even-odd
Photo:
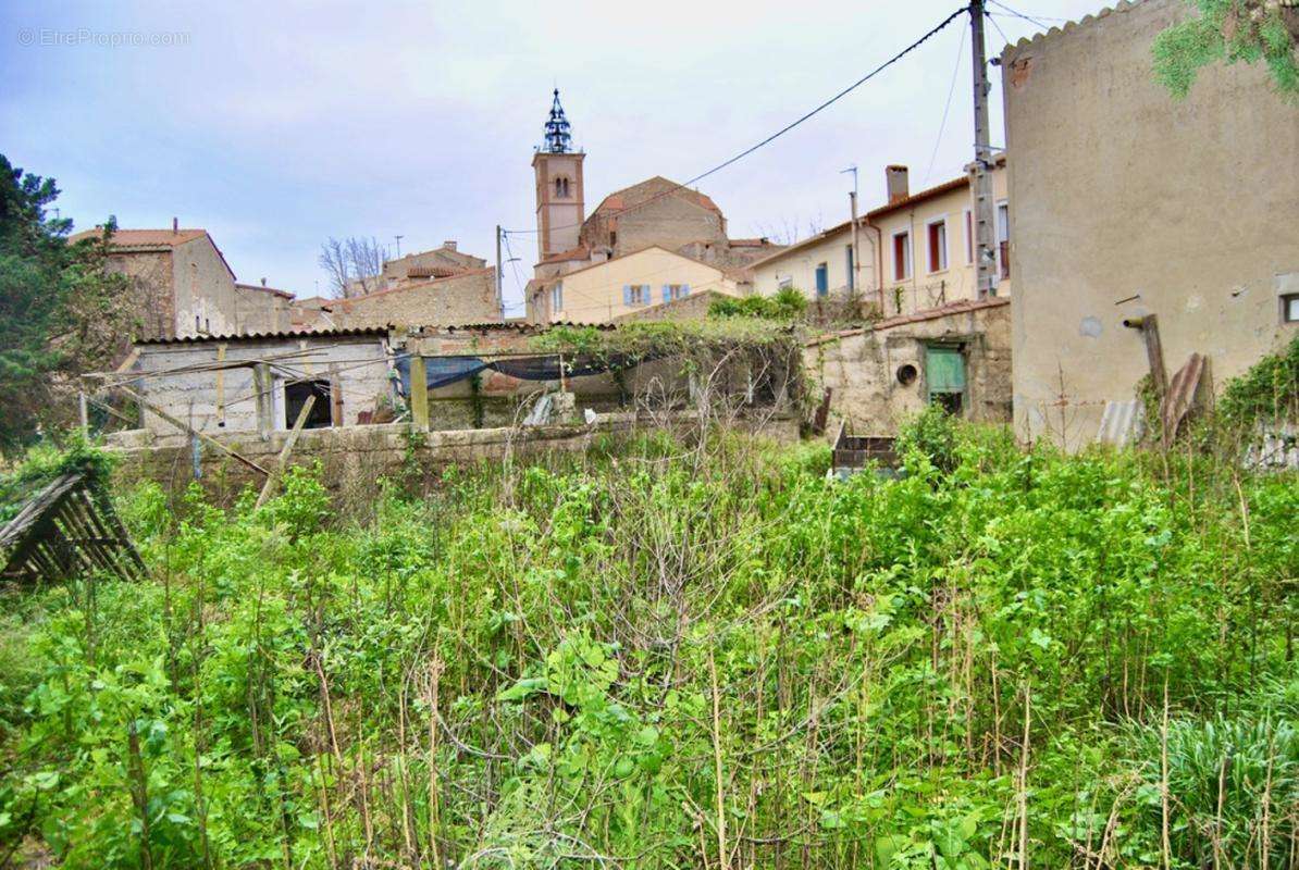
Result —
[{"label": "brick church bell tower topped with open ironwork spire", "polygon": [[546,140],[533,155],[536,175],[536,253],[546,260],[578,244],[586,208],[582,199],[581,151],[573,151],[569,122],[559,88],[546,122]]}]

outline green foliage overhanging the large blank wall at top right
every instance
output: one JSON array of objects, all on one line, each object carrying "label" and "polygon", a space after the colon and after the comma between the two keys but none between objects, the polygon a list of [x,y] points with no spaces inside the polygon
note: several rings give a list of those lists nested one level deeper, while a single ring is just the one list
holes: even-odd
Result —
[{"label": "green foliage overhanging the large blank wall at top right", "polygon": [[1200,69],[1212,64],[1267,65],[1278,93],[1299,101],[1299,6],[1286,0],[1187,0],[1199,16],[1161,32],[1155,75],[1185,99]]}]

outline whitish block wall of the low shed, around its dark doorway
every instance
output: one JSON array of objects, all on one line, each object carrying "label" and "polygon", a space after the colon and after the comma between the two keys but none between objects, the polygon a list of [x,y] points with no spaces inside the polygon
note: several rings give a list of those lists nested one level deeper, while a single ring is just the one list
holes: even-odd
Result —
[{"label": "whitish block wall of the low shed, around its dark doorway", "polygon": [[[252,364],[277,357],[269,408],[277,430],[287,430],[292,425],[286,418],[284,406],[284,384],[288,378],[333,379],[340,384],[343,419],[348,426],[356,425],[362,410],[374,410],[381,396],[392,392],[388,366],[383,361],[385,340],[375,336],[143,344],[135,370],[157,373],[210,366],[217,362],[222,348],[227,362],[247,360]],[[187,371],[147,377],[136,382],[136,390],[151,404],[201,432],[248,432],[257,436],[259,387],[251,366],[221,373]],[[144,414],[144,427],[158,435],[177,431],[153,413]]]}]

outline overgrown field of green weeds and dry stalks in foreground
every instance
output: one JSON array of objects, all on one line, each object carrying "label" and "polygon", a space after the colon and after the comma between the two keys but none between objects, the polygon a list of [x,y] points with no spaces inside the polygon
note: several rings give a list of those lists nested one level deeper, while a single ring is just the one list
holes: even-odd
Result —
[{"label": "overgrown field of green weeds and dry stalks in foreground", "polygon": [[1295,478],[902,449],[144,487],[152,582],[3,600],[0,864],[1295,866]]}]

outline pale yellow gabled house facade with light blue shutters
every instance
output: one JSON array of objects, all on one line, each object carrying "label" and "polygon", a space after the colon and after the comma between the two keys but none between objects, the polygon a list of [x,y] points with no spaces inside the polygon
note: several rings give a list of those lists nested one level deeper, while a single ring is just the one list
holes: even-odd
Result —
[{"label": "pale yellow gabled house facade with light blue shutters", "polygon": [[743,295],[739,282],[721,269],[653,245],[538,282],[527,297],[527,318],[607,323],[705,291]]}]

